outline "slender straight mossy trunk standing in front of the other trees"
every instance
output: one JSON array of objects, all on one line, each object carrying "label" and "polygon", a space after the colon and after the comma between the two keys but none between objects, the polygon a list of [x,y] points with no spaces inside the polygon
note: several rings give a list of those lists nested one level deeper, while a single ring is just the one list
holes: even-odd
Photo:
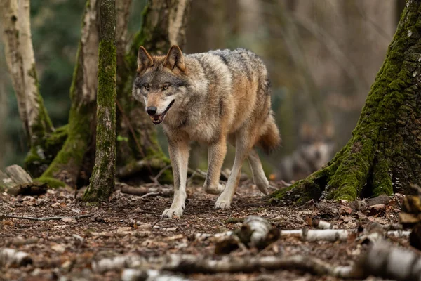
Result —
[{"label": "slender straight mossy trunk standing in front of the other trees", "polygon": [[95,166],[83,200],[106,200],[116,169],[116,1],[100,0]]}]

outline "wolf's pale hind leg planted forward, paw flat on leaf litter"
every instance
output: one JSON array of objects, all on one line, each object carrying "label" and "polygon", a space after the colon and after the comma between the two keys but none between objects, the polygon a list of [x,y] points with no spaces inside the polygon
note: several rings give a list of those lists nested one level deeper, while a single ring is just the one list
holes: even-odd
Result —
[{"label": "wolf's pale hind leg planted forward, paw flat on leaf litter", "polygon": [[232,197],[239,185],[241,166],[243,166],[244,159],[246,159],[248,152],[252,148],[251,143],[253,142],[250,139],[250,135],[253,136],[247,129],[244,129],[236,136],[234,166],[232,166],[225,190],[218,197],[218,200],[216,200],[215,209],[229,209],[231,207]]}]

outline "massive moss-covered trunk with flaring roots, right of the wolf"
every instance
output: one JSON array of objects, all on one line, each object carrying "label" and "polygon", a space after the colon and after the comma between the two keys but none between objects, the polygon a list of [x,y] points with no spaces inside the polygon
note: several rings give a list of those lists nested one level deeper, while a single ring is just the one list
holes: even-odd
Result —
[{"label": "massive moss-covered trunk with flaring roots, right of the wolf", "polygon": [[421,0],[407,1],[359,122],[319,171],[272,195],[298,203],[320,197],[409,193],[421,184]]}]

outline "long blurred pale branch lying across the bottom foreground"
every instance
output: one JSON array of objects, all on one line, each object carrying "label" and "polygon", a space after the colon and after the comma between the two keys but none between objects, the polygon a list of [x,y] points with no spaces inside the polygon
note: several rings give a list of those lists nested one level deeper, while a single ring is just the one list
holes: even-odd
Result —
[{"label": "long blurred pale branch lying across the bottom foreground", "polygon": [[[194,255],[169,255],[145,259],[140,256],[117,256],[94,261],[95,272],[107,270],[164,270],[184,274],[192,273],[250,273],[260,270],[302,270],[314,275],[331,275],[334,277],[356,277],[352,266],[332,266],[311,256],[262,256],[262,257],[224,257],[220,260],[205,259]],[[133,273],[133,271],[129,271]],[[129,280],[129,279],[128,279]]]}]

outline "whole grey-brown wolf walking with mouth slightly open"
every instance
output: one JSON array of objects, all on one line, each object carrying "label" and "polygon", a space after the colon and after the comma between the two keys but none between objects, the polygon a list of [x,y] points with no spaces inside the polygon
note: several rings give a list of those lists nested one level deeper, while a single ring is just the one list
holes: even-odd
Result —
[{"label": "whole grey-brown wolf walking with mouth slightly open", "polygon": [[[247,158],[253,180],[267,194],[269,181],[258,152],[281,142],[271,110],[267,69],[251,51],[216,50],[185,55],[172,46],[167,55],[152,56],[140,46],[133,96],[145,103],[154,124],[163,125],[173,167],[174,198],[167,218],[185,209],[189,142],[208,145],[208,173],[203,188],[220,194],[215,209],[229,209]],[[219,183],[227,141],[236,147],[226,186]]]}]

